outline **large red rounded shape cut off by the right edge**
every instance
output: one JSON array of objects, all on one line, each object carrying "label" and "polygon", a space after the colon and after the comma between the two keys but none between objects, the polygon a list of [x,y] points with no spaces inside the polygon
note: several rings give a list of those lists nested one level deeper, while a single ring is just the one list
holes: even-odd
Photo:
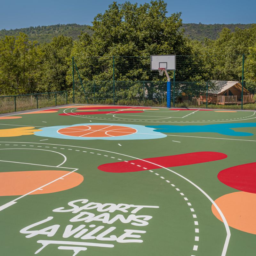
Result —
[{"label": "large red rounded shape cut off by the right edge", "polygon": [[224,169],[219,172],[218,179],[231,188],[256,193],[256,163]]}]

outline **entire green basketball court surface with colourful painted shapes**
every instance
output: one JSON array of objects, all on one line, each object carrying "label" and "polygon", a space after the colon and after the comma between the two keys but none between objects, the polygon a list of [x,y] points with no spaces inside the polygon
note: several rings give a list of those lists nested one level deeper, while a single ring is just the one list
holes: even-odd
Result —
[{"label": "entire green basketball court surface with colourful painted shapes", "polygon": [[256,111],[0,116],[1,255],[256,252]]}]

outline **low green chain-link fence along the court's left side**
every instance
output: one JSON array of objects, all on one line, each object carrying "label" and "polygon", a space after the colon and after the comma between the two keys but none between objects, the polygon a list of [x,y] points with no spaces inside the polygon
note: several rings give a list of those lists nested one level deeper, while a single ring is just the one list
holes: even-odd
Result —
[{"label": "low green chain-link fence along the court's left side", "polygon": [[0,96],[0,114],[68,104],[67,92]]}]

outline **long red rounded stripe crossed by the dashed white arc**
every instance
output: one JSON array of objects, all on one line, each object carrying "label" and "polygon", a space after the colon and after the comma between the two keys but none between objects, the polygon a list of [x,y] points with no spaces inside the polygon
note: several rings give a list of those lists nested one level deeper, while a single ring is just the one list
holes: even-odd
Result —
[{"label": "long red rounded stripe crossed by the dashed white arc", "polygon": [[206,163],[221,160],[226,157],[227,155],[219,152],[193,152],[175,156],[161,156],[143,159],[154,164],[150,164],[141,160],[131,160],[128,162],[102,164],[98,167],[98,169],[104,172],[139,172],[145,171],[143,167],[147,168],[148,170],[161,168],[155,164],[159,164],[163,167],[174,167],[189,164]]}]

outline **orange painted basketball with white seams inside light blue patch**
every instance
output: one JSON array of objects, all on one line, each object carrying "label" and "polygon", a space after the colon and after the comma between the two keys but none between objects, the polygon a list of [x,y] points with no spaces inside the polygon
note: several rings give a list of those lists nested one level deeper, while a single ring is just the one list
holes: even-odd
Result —
[{"label": "orange painted basketball with white seams inside light blue patch", "polygon": [[75,136],[75,137],[116,137],[131,135],[137,130],[127,126],[119,125],[79,125],[62,128],[58,131],[60,134]]}]

